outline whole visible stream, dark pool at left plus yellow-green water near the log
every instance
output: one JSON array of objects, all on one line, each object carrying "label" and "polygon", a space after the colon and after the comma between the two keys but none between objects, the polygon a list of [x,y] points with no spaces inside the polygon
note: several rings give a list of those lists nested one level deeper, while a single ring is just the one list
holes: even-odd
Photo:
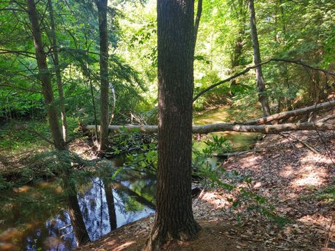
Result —
[{"label": "whole visible stream, dark pool at left plus yellow-green water near the log", "polygon": [[[198,114],[193,123],[230,122],[232,119],[227,111],[228,107],[220,107]],[[215,132],[211,135],[226,137],[234,151],[248,149],[258,138],[252,133],[239,132]],[[195,144],[200,148],[204,145],[203,142]],[[110,161],[115,167],[123,164]],[[77,188],[80,213],[91,241],[154,213],[154,176],[121,178],[118,183],[111,184],[104,181],[104,177],[92,177],[89,183]],[[75,229],[67,209],[63,191],[55,182],[40,181],[6,191],[0,199],[0,251],[75,249]]]}]

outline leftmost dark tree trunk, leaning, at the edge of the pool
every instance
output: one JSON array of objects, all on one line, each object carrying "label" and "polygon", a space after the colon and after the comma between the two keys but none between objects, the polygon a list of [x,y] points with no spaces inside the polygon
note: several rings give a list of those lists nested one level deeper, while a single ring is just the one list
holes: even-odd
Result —
[{"label": "leftmost dark tree trunk, leaning, at the edge of the pool", "polygon": [[38,75],[42,83],[43,96],[45,100],[45,108],[47,110],[47,119],[49,121],[54,146],[59,151],[65,150],[65,142],[61,135],[59,122],[57,117],[57,109],[54,107],[54,93],[50,79],[50,72],[47,68],[46,54],[43,48],[42,36],[40,33],[40,24],[38,21],[38,13],[34,0],[27,0],[28,15],[31,23],[31,31],[34,37],[34,47],[36,51],[36,59],[38,65]]}]

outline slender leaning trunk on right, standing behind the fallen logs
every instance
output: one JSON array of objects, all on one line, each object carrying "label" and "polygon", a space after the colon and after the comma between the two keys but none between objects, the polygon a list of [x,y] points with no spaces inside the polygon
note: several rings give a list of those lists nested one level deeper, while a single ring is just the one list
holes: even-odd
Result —
[{"label": "slender leaning trunk on right, standing behind the fallen logs", "polygon": [[[260,45],[258,43],[258,33],[256,26],[256,16],[255,16],[255,6],[253,0],[249,0],[249,12],[250,12],[250,28],[251,28],[251,38],[253,40],[253,61],[255,65],[261,63],[260,59]],[[263,116],[270,115],[269,98],[265,93],[265,82],[262,75],[262,66],[255,68],[256,78],[257,78],[257,89],[258,89],[258,99],[262,105]]]}]

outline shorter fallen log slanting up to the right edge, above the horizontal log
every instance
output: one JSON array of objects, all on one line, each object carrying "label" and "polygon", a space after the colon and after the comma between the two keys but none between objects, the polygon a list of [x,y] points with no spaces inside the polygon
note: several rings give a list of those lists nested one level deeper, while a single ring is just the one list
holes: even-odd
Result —
[{"label": "shorter fallen log slanting up to the right edge, above the horizontal log", "polygon": [[246,123],[243,123],[244,125],[262,125],[265,123],[269,123],[271,121],[278,121],[279,119],[287,119],[291,116],[298,116],[301,114],[307,114],[309,112],[316,112],[320,110],[329,110],[335,107],[335,100],[323,102],[318,105],[311,105],[309,107],[304,107],[301,109],[295,109],[289,112],[281,112],[279,114],[274,114],[271,116],[267,116],[260,119],[255,119],[253,121],[247,121]]}]

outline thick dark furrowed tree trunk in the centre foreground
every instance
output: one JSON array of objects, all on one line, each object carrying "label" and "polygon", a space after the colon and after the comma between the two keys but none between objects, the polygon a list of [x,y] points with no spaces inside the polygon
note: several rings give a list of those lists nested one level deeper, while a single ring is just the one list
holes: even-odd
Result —
[{"label": "thick dark furrowed tree trunk in the centre foreground", "polygon": [[191,0],[158,0],[156,220],[144,250],[197,237],[191,201],[193,15]]}]

